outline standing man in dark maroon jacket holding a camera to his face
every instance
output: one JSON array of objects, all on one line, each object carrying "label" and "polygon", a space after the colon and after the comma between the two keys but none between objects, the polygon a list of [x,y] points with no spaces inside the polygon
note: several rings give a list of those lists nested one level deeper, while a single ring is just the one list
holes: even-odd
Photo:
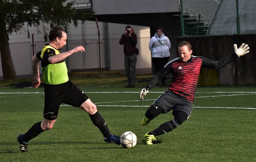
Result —
[{"label": "standing man in dark maroon jacket holding a camera to his face", "polygon": [[125,87],[133,88],[136,82],[137,35],[134,33],[131,26],[128,25],[125,27],[124,34],[119,43],[124,45],[124,68],[128,80],[128,85]]}]

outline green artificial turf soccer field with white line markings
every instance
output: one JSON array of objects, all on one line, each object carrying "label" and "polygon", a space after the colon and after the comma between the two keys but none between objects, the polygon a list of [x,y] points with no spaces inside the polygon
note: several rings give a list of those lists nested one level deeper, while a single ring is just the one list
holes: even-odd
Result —
[{"label": "green artificial turf soccer field with white line markings", "polygon": [[137,145],[125,149],[106,144],[99,129],[83,110],[61,105],[52,130],[18,148],[17,135],[43,119],[43,88],[0,88],[1,161],[255,161],[256,87],[197,88],[195,105],[187,121],[146,145],[143,136],[172,112],[141,125],[146,110],[167,87],[153,88],[139,101],[140,88],[80,86],[97,105],[110,132],[132,131]]}]

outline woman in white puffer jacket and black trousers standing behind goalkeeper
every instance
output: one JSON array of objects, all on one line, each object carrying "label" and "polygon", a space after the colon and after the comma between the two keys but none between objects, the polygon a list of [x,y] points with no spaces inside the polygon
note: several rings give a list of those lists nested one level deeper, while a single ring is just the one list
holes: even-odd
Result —
[{"label": "woman in white puffer jacket and black trousers standing behind goalkeeper", "polygon": [[[156,33],[149,41],[149,49],[151,51],[151,57],[154,63],[156,74],[160,71],[166,63],[169,61],[171,42],[168,37],[164,36],[164,29],[162,27],[156,28]],[[165,78],[161,80],[162,85],[165,85]],[[159,86],[157,84],[156,86]]]}]

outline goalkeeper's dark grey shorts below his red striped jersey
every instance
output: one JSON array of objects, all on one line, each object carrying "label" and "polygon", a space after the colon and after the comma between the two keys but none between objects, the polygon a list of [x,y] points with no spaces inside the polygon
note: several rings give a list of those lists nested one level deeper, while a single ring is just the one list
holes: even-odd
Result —
[{"label": "goalkeeper's dark grey shorts below his red striped jersey", "polygon": [[[182,96],[178,96],[173,93],[171,90],[167,90],[159,96],[158,99],[152,104],[162,107],[164,109],[163,114],[168,113],[169,111],[184,111],[188,116],[191,114],[191,109],[193,108],[193,103],[183,98]],[[173,112],[172,112],[173,114]]]}]

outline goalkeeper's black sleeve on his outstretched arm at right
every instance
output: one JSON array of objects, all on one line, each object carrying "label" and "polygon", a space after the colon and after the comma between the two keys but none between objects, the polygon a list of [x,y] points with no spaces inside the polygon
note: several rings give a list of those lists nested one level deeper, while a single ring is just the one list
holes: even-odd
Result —
[{"label": "goalkeeper's black sleeve on his outstretched arm at right", "polygon": [[203,67],[204,68],[210,68],[210,69],[220,69],[231,63],[232,61],[235,61],[237,59],[237,55],[234,53],[228,57],[222,58],[218,61],[210,60],[208,58],[203,57]]}]

